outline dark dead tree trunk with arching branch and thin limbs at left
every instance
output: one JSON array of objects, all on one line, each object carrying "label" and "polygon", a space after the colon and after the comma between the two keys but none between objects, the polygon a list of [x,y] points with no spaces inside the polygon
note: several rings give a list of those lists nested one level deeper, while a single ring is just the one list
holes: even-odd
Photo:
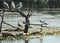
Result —
[{"label": "dark dead tree trunk with arching branch and thin limbs at left", "polygon": [[[10,10],[4,10],[5,12],[6,11],[10,11]],[[23,12],[21,12],[20,10],[16,10],[16,9],[13,9],[13,10],[11,10],[10,12],[18,12],[18,13],[20,13],[20,15],[21,16],[23,16],[24,18],[25,18],[25,22],[26,22],[26,24],[25,24],[25,30],[24,30],[24,32],[25,33],[27,33],[28,32],[28,26],[29,26],[29,23],[30,23],[30,21],[29,21],[29,17],[31,16],[29,13],[27,14],[27,15],[25,15]],[[0,26],[0,30],[1,30],[1,28],[2,28],[2,23],[4,23],[4,24],[6,24],[6,25],[9,25],[9,26],[12,26],[11,24],[8,24],[8,23],[6,23],[6,22],[4,22],[3,20],[3,17],[4,17],[4,14],[3,14],[3,16],[2,16],[2,21],[1,21],[1,26]],[[12,27],[14,27],[14,28],[16,28],[15,26],[12,26]]]}]

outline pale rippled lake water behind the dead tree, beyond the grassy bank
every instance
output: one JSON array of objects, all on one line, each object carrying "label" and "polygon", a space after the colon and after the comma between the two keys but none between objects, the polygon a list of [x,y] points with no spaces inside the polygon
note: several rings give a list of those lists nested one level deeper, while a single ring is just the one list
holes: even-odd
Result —
[{"label": "pale rippled lake water behind the dead tree, beyond the grassy bank", "polygon": [[[24,13],[27,14],[28,11],[24,11]],[[50,15],[50,14],[43,14],[41,12],[38,13],[36,11],[33,11],[32,16],[29,19],[30,19],[30,23],[33,24],[40,24],[39,20],[42,20],[48,23],[47,27],[60,27],[60,14]],[[17,26],[18,22],[24,26],[22,22],[25,21],[25,19],[16,12],[15,13],[6,12],[4,15],[4,21],[13,26],[18,27]],[[10,26],[3,24],[3,28],[7,29],[8,27],[11,28]]]}]

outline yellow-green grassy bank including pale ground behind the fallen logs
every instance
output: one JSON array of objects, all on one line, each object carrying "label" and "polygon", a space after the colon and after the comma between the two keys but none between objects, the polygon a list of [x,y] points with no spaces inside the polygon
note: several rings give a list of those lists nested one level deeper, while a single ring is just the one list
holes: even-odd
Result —
[{"label": "yellow-green grassy bank including pale ground behind the fallen logs", "polygon": [[[11,33],[14,36],[8,36],[8,37],[3,37],[0,36],[0,40],[18,40],[18,39],[24,39],[24,40],[28,40],[28,39],[32,39],[32,38],[42,38],[44,36],[47,35],[52,35],[52,36],[60,36],[60,28],[42,28],[43,31],[40,32],[43,35],[39,34],[39,33],[35,33],[35,34],[31,34],[34,33],[35,30],[31,31],[31,29],[29,29],[27,36],[26,35],[19,35],[17,36],[16,34],[24,34],[23,31],[2,31],[1,33]],[[39,32],[37,29],[35,32]]]}]

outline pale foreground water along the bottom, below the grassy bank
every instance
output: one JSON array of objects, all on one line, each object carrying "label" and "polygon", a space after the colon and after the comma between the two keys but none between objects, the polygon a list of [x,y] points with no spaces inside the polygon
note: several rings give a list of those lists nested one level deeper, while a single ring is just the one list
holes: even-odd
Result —
[{"label": "pale foreground water along the bottom, below the grassy bank", "polygon": [[45,36],[42,39],[30,39],[30,40],[4,40],[0,43],[60,43],[60,36]]}]

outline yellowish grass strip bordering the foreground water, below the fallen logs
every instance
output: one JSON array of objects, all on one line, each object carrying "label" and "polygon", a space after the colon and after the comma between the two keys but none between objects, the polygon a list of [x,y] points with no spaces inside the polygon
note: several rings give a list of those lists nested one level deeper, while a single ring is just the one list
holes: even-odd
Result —
[{"label": "yellowish grass strip bordering the foreground water, below the fallen logs", "polygon": [[32,38],[41,38],[47,35],[52,35],[52,36],[60,36],[60,31],[43,31],[42,32],[43,35],[41,34],[35,34],[35,35],[22,35],[22,36],[8,36],[8,37],[0,37],[0,40],[19,40],[19,39],[23,39],[23,40],[28,40],[28,39],[32,39]]}]

